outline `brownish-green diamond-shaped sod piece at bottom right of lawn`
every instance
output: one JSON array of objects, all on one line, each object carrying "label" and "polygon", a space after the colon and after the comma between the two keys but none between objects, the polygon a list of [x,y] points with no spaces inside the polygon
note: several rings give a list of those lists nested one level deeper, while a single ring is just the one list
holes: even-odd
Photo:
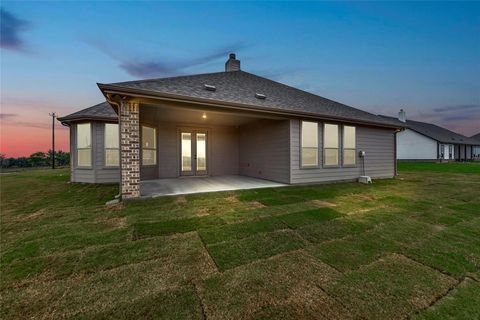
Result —
[{"label": "brownish-green diamond-shaped sod piece at bottom right of lawn", "polygon": [[356,318],[407,318],[447,293],[457,281],[405,256],[391,254],[328,284]]}]

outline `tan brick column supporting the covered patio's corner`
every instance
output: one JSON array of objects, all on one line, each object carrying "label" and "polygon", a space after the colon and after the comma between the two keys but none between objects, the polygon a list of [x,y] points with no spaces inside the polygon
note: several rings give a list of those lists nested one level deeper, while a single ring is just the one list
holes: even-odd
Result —
[{"label": "tan brick column supporting the covered patio's corner", "polygon": [[122,101],[120,124],[120,190],[122,199],[140,197],[140,126],[137,102]]}]

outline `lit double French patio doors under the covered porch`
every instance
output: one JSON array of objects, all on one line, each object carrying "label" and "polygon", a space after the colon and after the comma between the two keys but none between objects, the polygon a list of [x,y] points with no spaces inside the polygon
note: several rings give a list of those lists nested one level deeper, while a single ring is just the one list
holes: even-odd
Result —
[{"label": "lit double French patio doors under the covered porch", "polygon": [[206,175],[207,161],[207,132],[182,130],[180,132],[180,175]]}]

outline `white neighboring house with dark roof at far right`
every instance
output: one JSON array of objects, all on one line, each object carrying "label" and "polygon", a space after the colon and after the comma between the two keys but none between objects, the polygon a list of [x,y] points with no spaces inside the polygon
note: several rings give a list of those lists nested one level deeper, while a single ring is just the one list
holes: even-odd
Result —
[{"label": "white neighboring house with dark roof at far right", "polygon": [[405,126],[405,130],[397,134],[398,160],[473,159],[476,141],[471,138],[431,123],[407,120],[403,109],[398,113],[398,118],[382,117]]}]

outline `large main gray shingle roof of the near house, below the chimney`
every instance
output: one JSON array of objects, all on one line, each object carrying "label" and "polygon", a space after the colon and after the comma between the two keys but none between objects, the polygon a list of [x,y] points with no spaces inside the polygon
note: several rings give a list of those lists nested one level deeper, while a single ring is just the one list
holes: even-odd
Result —
[{"label": "large main gray shingle roof of the near house, below the chimney", "polygon": [[[205,85],[215,88],[208,90]],[[227,107],[241,105],[257,111],[403,127],[403,124],[399,125],[372,113],[244,71],[117,82],[98,86],[103,92],[143,93],[206,103],[220,102]]]}]

